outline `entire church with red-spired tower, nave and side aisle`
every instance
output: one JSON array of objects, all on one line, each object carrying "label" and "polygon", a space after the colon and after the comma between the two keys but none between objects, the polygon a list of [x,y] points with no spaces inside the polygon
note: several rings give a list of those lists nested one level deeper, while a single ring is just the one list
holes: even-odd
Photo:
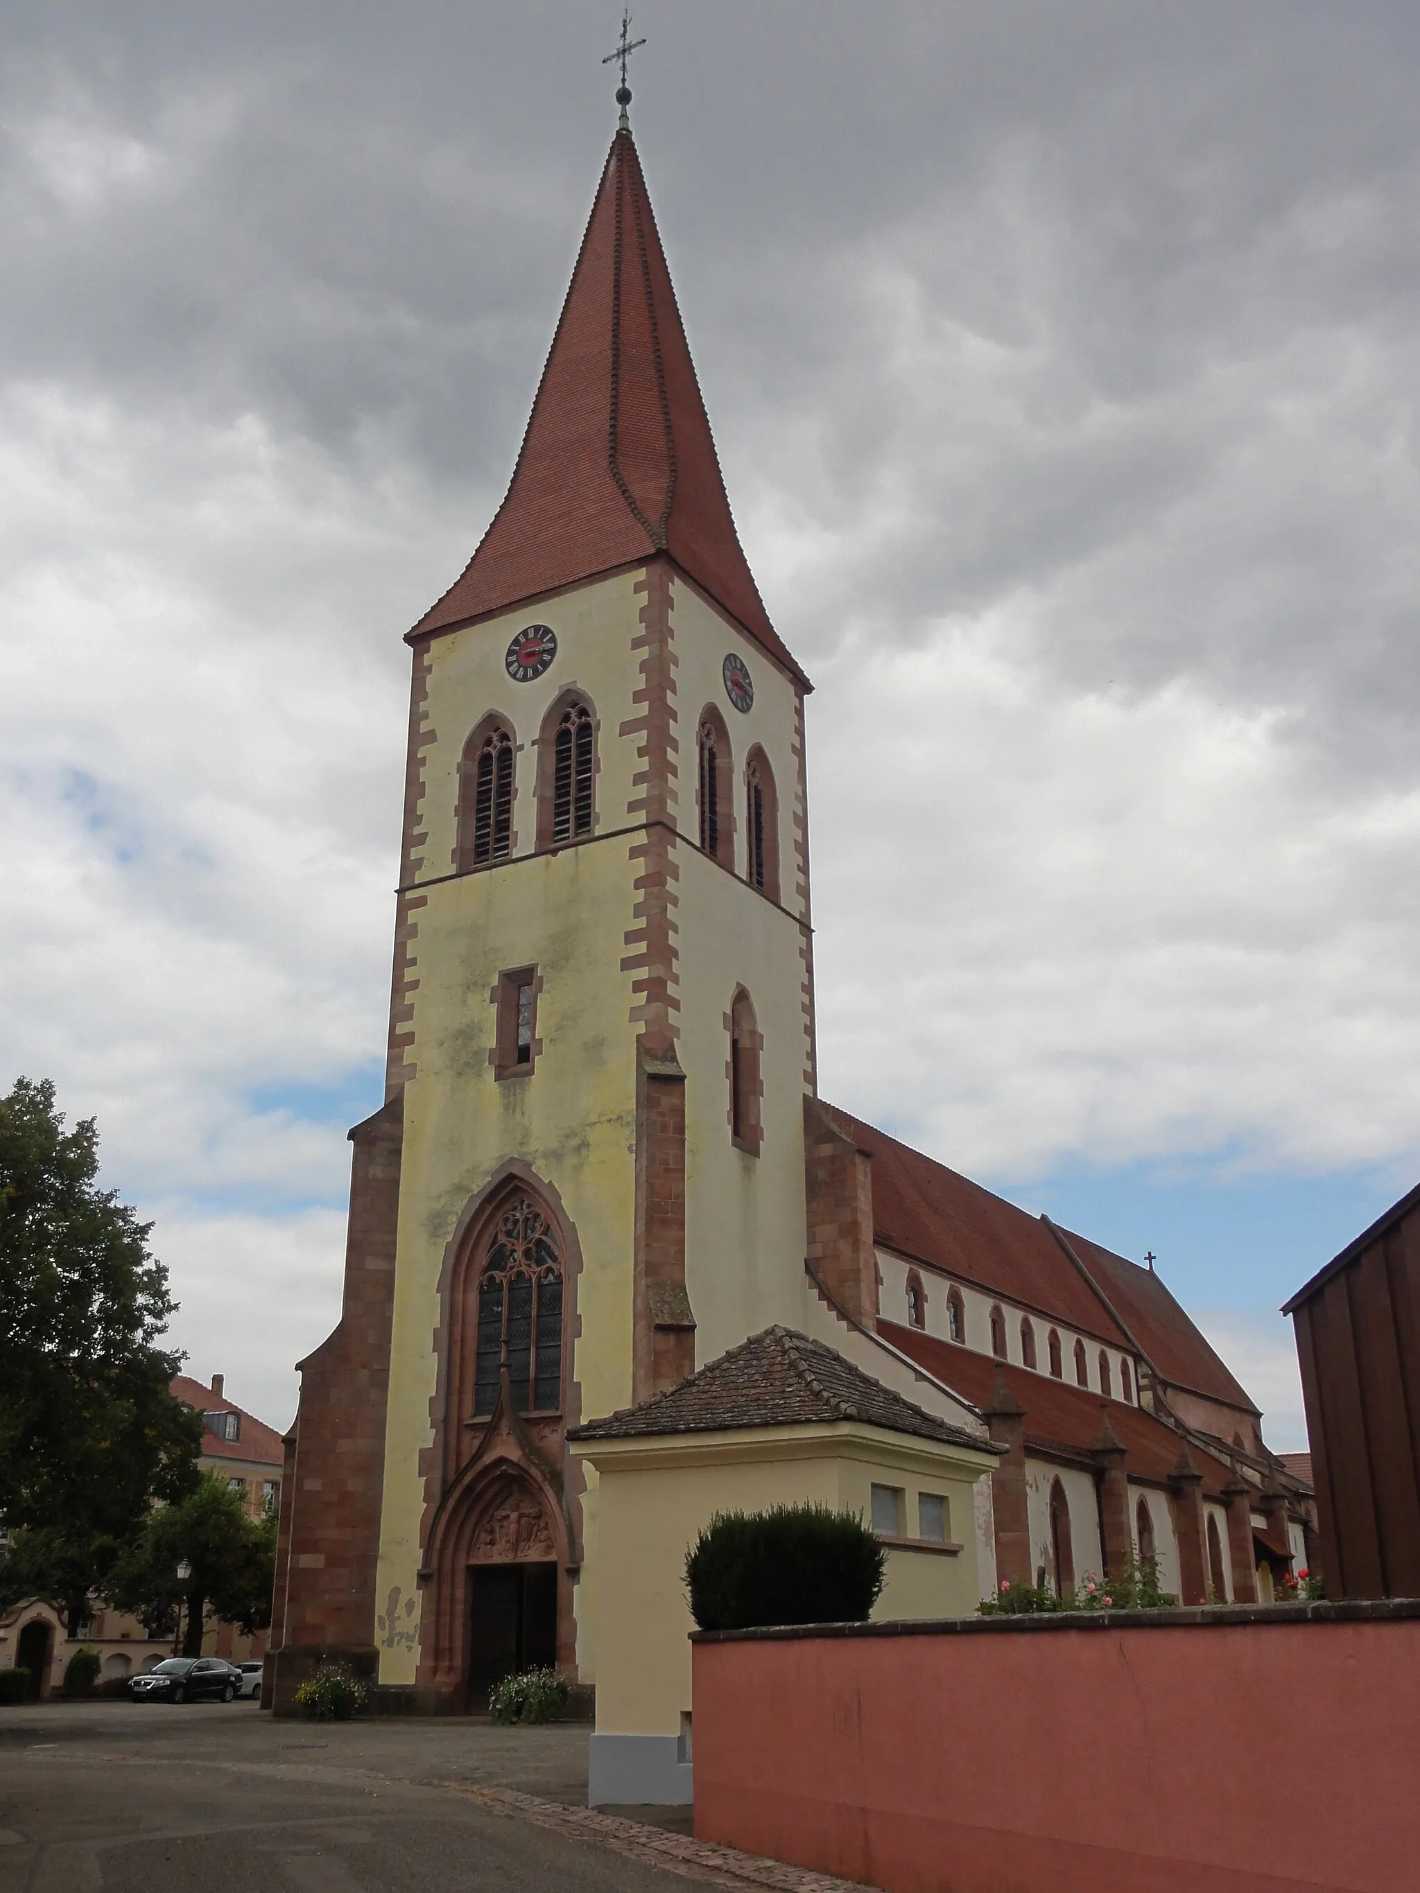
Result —
[{"label": "entire church with red-spired tower, nave and side aisle", "polygon": [[[1270,1594],[1308,1488],[1163,1282],[818,1096],[810,685],[625,127],[507,496],[407,642],[386,1102],[350,1132],[341,1321],[301,1363],[267,1702],[324,1654],[390,1707],[532,1662],[596,1681],[593,1444],[765,1331],[746,1372],[822,1393],[829,1348],[896,1401],[884,1439],[960,1446],[960,1607],[1136,1552],[1189,1601]],[[721,1372],[674,1425],[733,1429],[735,1386]],[[871,1499],[896,1554],[945,1539],[926,1490],[884,1524],[896,1490]]]}]

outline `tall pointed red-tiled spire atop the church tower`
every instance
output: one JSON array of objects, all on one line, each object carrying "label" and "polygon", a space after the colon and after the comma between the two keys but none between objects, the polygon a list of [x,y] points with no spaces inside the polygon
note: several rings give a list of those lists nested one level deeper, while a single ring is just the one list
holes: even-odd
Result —
[{"label": "tall pointed red-tiled spire atop the church tower", "polygon": [[807,681],[735,532],[636,144],[619,131],[507,496],[411,638],[655,553]]}]

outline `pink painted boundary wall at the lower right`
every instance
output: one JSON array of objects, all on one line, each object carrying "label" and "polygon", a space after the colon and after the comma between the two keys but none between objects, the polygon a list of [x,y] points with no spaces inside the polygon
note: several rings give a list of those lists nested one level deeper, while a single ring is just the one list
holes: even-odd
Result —
[{"label": "pink painted boundary wall at the lower right", "polygon": [[890,1893],[1420,1885],[1420,1619],[695,1645],[695,1832]]}]

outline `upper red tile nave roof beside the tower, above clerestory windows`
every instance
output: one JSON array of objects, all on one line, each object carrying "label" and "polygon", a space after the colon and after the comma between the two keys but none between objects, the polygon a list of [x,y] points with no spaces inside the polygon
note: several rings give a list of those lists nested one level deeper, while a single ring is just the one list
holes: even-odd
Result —
[{"label": "upper red tile nave roof beside the tower, above clerestory windows", "polygon": [[884,1247],[1128,1348],[1045,1223],[846,1111],[825,1109],[873,1159],[873,1229]]}]

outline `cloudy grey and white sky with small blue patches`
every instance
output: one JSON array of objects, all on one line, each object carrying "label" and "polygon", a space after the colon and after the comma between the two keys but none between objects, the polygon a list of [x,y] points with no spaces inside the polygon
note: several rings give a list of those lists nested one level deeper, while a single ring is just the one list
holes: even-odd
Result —
[{"label": "cloudy grey and white sky with small blue patches", "polygon": [[[275,1424],[381,1096],[401,632],[502,496],[617,23],[6,9],[0,1083],[98,1115],[191,1371]],[[818,685],[824,1090],[1153,1249],[1303,1444],[1276,1306],[1420,1174],[1420,13],[636,28]]]}]

